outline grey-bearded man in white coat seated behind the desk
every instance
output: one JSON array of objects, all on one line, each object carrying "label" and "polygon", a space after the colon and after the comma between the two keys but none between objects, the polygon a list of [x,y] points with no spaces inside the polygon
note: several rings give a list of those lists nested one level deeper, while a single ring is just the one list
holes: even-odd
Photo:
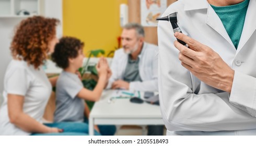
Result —
[{"label": "grey-bearded man in white coat seated behind the desk", "polygon": [[123,48],[114,53],[107,88],[158,91],[158,47],[144,42],[144,29],[137,23],[127,23],[121,39]]}]

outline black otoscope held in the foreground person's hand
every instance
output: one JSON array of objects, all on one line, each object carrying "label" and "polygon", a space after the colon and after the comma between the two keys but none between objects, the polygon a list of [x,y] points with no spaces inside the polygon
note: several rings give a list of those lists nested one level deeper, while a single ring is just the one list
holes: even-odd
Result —
[{"label": "black otoscope held in the foreground person's hand", "polygon": [[[174,33],[175,33],[175,32],[180,32],[180,33],[182,33],[181,30],[180,30],[180,28],[179,28],[179,26],[178,26],[178,24],[177,24],[177,22],[178,22],[178,20],[177,20],[177,12],[172,13],[172,14],[170,14],[169,16],[166,16],[166,17],[157,18],[156,20],[169,21],[169,22],[171,23],[171,26],[172,26],[172,29],[173,29],[173,32],[174,32]],[[185,43],[185,42],[183,42],[183,41],[181,41],[181,40],[179,40],[179,39],[177,39],[177,41],[180,42],[182,45],[188,47],[188,44],[187,44],[187,43]]]}]

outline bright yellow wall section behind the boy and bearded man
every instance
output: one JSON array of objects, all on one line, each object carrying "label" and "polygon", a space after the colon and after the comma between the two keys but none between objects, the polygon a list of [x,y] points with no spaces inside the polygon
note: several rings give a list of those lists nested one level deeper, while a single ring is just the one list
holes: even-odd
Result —
[{"label": "bright yellow wall section behind the boy and bearded man", "polygon": [[84,53],[102,48],[105,56],[121,34],[119,7],[127,0],[63,0],[63,34],[85,42]]}]

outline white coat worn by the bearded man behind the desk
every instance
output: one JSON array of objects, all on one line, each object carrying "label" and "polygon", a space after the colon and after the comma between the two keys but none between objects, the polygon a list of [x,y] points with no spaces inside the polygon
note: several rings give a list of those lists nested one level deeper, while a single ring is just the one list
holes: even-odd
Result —
[{"label": "white coat worn by the bearded man behind the desk", "polygon": [[[112,83],[116,80],[123,80],[124,71],[128,62],[128,56],[124,53],[123,48],[115,51],[111,70],[112,76],[109,79],[107,89],[111,88]],[[131,91],[158,91],[158,47],[153,44],[144,42],[142,52],[139,57],[139,76],[142,82],[130,82],[129,90]]]}]

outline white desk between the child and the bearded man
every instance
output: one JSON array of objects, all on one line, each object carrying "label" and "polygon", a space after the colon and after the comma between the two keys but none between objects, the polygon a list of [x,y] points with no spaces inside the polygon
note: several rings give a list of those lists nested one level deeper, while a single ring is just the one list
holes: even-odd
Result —
[{"label": "white desk between the child and the bearded man", "polygon": [[158,105],[131,103],[130,99],[109,103],[112,92],[115,91],[104,91],[94,104],[89,116],[89,135],[94,135],[94,125],[164,125]]}]

